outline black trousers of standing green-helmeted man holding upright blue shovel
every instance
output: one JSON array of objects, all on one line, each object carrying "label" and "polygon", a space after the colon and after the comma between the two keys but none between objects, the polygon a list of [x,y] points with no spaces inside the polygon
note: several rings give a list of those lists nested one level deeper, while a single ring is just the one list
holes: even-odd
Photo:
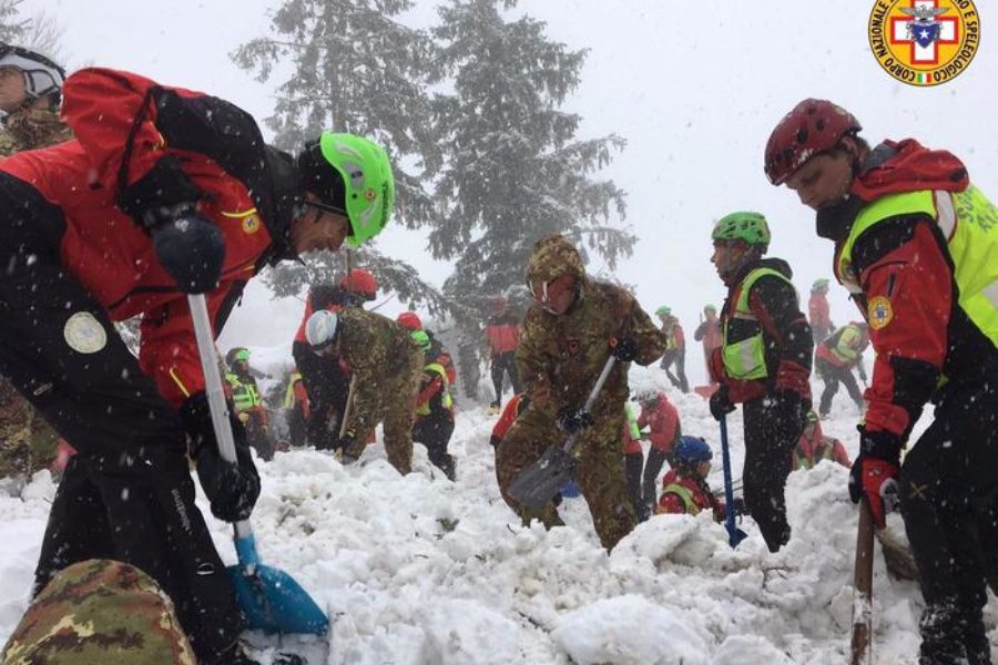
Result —
[{"label": "black trousers of standing green-helmeted man holding upright blue shovel", "polygon": [[790,540],[786,521],[786,478],[793,469],[791,452],[804,430],[797,400],[763,397],[745,402],[745,468],[742,488],[745,508],[758,524],[771,552]]}]

